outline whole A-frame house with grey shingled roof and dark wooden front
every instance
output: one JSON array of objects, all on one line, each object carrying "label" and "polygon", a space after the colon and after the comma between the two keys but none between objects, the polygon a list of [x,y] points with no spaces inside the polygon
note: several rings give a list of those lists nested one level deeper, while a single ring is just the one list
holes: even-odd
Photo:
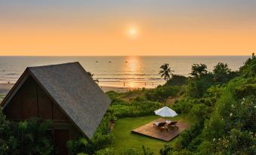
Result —
[{"label": "whole A-frame house with grey shingled roof and dark wooden front", "polygon": [[79,62],[28,67],[1,106],[9,120],[52,120],[51,135],[59,154],[66,141],[94,135],[110,99]]}]

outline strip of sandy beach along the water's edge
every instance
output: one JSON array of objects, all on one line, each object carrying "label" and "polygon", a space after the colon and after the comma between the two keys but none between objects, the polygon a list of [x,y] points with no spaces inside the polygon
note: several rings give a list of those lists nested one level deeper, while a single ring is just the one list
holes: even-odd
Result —
[{"label": "strip of sandy beach along the water's edge", "polygon": [[[7,95],[8,92],[11,90],[11,88],[14,86],[14,84],[0,84],[0,95]],[[115,91],[117,93],[125,93],[130,90],[138,90],[141,88],[137,87],[107,87],[107,86],[99,86],[103,92],[108,92],[108,91]],[[147,88],[149,89],[149,88]]]}]

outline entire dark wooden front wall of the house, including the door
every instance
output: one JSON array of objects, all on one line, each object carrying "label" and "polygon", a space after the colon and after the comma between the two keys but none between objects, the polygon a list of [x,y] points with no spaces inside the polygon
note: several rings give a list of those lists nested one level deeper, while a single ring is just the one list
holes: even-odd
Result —
[{"label": "entire dark wooden front wall of the house, including the door", "polygon": [[10,120],[27,120],[40,117],[42,120],[52,120],[52,138],[56,150],[66,154],[66,141],[76,138],[79,130],[63,114],[58,105],[51,101],[39,84],[29,76],[23,86],[17,91],[4,109]]}]

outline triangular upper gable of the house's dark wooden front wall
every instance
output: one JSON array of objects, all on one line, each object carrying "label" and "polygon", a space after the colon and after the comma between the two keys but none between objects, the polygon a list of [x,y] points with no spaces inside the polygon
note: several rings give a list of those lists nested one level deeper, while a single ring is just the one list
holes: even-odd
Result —
[{"label": "triangular upper gable of the house's dark wooden front wall", "polygon": [[44,90],[29,76],[4,108],[11,120],[27,120],[39,117],[42,120],[66,120],[68,117],[50,99]]}]

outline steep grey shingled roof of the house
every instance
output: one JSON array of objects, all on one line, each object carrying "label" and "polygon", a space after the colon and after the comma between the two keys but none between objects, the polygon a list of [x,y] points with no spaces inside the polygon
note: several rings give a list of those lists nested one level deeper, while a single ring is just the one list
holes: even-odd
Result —
[{"label": "steep grey shingled roof of the house", "polygon": [[[79,62],[29,67],[23,74],[30,74],[83,134],[88,138],[94,135],[110,99]],[[15,92],[15,88],[18,86],[11,91]],[[3,101],[4,106],[8,100]]]}]

